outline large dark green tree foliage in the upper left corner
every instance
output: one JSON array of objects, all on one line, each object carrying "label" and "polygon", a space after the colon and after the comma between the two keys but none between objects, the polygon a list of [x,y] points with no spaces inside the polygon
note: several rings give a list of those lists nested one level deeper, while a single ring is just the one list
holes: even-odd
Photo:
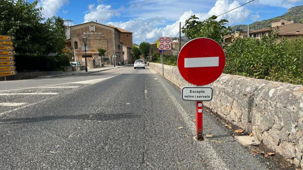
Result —
[{"label": "large dark green tree foliage in the upper left corner", "polygon": [[5,0],[0,3],[0,34],[11,35],[19,54],[61,53],[65,26],[60,17],[42,17],[38,0]]}]

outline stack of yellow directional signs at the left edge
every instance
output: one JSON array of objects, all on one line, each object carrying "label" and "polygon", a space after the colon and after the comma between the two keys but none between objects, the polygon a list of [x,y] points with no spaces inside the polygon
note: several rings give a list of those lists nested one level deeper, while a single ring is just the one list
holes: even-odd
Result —
[{"label": "stack of yellow directional signs at the left edge", "polygon": [[0,35],[0,77],[17,74],[15,71],[14,43],[12,37]]}]

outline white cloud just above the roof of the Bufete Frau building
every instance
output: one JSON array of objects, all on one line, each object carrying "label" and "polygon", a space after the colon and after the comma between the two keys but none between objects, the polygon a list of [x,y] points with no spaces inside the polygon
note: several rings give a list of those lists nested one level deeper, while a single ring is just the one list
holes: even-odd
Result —
[{"label": "white cloud just above the roof of the Bufete Frau building", "polygon": [[108,21],[112,16],[120,16],[120,10],[111,9],[111,5],[98,5],[95,8],[95,4],[88,5],[89,13],[85,14],[84,22],[89,21]]}]

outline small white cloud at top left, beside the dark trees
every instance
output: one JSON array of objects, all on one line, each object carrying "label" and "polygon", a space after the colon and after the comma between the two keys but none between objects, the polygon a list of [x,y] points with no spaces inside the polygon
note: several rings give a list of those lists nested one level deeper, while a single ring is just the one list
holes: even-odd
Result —
[{"label": "small white cloud at top left, beside the dark trees", "polygon": [[38,6],[42,7],[45,19],[56,15],[60,8],[68,4],[69,0],[40,0]]}]

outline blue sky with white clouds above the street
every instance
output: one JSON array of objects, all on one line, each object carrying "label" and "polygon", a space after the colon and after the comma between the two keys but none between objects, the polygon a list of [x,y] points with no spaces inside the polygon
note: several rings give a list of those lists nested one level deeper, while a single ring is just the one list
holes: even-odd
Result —
[{"label": "blue sky with white clouds above the street", "polygon": [[[33,1],[33,0],[30,0]],[[204,20],[220,15],[250,0],[39,0],[45,18],[53,15],[73,20],[73,24],[96,21],[133,32],[133,43],[150,43],[159,36],[175,37],[179,22],[196,15]],[[220,16],[228,25],[251,24],[283,15],[303,0],[255,0]]]}]

